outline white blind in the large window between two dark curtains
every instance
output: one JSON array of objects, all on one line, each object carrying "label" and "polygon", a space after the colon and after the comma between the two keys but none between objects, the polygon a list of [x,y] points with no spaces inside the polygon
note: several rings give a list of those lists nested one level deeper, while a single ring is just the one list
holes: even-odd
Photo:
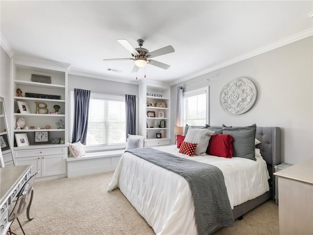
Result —
[{"label": "white blind in the large window between two dark curtains", "polygon": [[125,97],[91,94],[86,145],[125,143]]}]

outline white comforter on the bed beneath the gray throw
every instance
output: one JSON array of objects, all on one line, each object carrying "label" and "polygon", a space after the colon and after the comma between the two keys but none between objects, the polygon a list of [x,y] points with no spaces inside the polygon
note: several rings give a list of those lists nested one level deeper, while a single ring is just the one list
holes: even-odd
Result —
[{"label": "white comforter on the bed beneath the gray throw", "polygon": [[[176,145],[155,148],[219,167],[232,209],[269,190],[268,170],[259,149],[256,149],[257,161],[252,161],[209,155],[189,157],[180,154]],[[191,190],[180,175],[126,152],[107,189],[114,188],[120,188],[156,234],[198,234]]]}]

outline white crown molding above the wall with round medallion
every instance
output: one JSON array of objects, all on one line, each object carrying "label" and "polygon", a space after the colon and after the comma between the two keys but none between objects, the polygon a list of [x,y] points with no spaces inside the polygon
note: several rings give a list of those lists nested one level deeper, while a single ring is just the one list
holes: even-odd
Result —
[{"label": "white crown molding above the wall with round medallion", "polygon": [[176,80],[174,80],[171,83],[171,86],[173,86],[175,84],[178,84],[180,82],[187,81],[187,80],[189,80],[191,78],[195,78],[195,77],[201,76],[203,74],[206,74],[206,73],[218,70],[218,69],[222,69],[222,68],[224,68],[226,66],[229,66],[229,65],[235,64],[237,62],[246,60],[246,59],[251,58],[251,57],[256,56],[256,55],[260,55],[260,54],[265,53],[267,51],[276,49],[278,47],[283,47],[285,45],[288,45],[288,44],[291,44],[291,43],[296,42],[298,40],[310,37],[312,35],[313,35],[313,28],[309,28],[309,29],[307,29],[305,31],[302,31],[302,32],[297,33],[297,34],[294,34],[294,35],[292,35],[290,37],[287,37],[285,39],[279,40],[279,41],[277,41],[275,43],[268,44],[267,46],[260,47],[260,48],[258,48],[256,50],[252,50],[252,51],[250,51],[250,52],[248,52],[246,54],[234,57],[234,58],[232,58],[230,60],[226,60],[226,61],[224,61],[224,62],[222,62],[220,64],[214,65],[212,67],[209,67],[209,68],[207,68],[205,70],[199,71],[199,72],[197,72],[195,74],[192,74],[190,76],[176,79]]}]

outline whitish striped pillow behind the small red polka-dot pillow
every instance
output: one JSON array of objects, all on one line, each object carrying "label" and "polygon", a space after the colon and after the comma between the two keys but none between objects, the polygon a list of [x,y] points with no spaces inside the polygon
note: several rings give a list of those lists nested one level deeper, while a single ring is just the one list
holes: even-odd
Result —
[{"label": "whitish striped pillow behind the small red polka-dot pillow", "polygon": [[188,143],[198,143],[195,155],[206,155],[205,151],[207,145],[209,145],[209,140],[214,131],[208,129],[190,128],[185,137],[185,142]]}]

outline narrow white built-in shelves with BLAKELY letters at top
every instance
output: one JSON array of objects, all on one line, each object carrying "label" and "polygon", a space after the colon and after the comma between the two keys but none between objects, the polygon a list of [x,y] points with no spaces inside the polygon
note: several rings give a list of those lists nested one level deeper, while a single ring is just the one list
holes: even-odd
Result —
[{"label": "narrow white built-in shelves with BLAKELY letters at top", "polygon": [[167,83],[139,83],[139,133],[145,136],[145,146],[169,145],[170,86]]}]

